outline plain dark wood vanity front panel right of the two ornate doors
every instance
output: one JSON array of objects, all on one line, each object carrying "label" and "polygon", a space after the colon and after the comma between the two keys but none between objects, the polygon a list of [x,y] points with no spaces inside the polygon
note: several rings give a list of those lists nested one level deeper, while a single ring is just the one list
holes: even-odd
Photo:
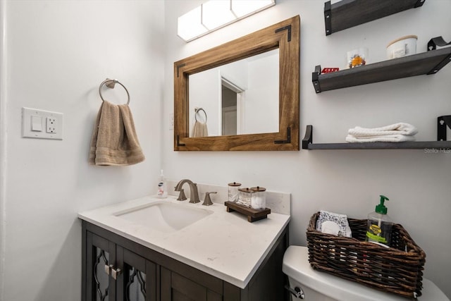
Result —
[{"label": "plain dark wood vanity front panel right of the two ornate doors", "polygon": [[161,301],[222,301],[218,293],[161,266]]}]

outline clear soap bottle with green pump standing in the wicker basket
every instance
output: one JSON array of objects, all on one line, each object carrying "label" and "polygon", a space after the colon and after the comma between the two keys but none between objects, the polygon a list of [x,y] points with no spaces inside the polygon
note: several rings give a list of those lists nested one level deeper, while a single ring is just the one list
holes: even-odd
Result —
[{"label": "clear soap bottle with green pump standing in the wicker basket", "polygon": [[383,204],[385,201],[388,201],[388,197],[384,195],[380,195],[380,197],[381,204],[376,205],[376,210],[368,214],[366,241],[390,247],[393,221],[387,215],[387,207]]}]

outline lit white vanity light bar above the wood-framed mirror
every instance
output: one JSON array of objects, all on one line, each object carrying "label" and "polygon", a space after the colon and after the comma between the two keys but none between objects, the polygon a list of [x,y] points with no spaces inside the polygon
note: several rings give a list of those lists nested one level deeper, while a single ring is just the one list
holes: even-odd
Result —
[{"label": "lit white vanity light bar above the wood-framed mirror", "polygon": [[276,0],[209,0],[180,16],[177,35],[190,42],[276,5]]}]

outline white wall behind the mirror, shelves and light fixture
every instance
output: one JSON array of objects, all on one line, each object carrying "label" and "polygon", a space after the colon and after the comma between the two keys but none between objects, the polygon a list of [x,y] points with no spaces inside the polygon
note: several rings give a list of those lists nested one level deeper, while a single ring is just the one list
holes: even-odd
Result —
[{"label": "white wall behind the mirror, shelves and light fixture", "polygon": [[[375,127],[399,121],[419,128],[417,140],[435,140],[436,118],[451,113],[451,66],[422,75],[315,94],[311,72],[316,65],[345,65],[347,50],[369,47],[369,62],[385,59],[385,47],[403,35],[418,35],[420,52],[431,37],[451,40],[451,1],[428,0],[411,9],[326,37],[323,3],[278,0],[277,5],[190,43],[176,36],[177,17],[201,0],[166,0],[164,116],[173,111],[173,62],[263,27],[301,17],[301,138],[314,125],[314,142],[344,142],[355,125]],[[245,186],[291,192],[290,242],[305,245],[311,214],[326,209],[365,218],[378,195],[390,198],[389,215],[426,252],[425,276],[451,297],[451,153],[423,149],[328,150],[300,152],[173,152],[173,133],[163,122],[163,168],[169,178],[198,183]]]}]

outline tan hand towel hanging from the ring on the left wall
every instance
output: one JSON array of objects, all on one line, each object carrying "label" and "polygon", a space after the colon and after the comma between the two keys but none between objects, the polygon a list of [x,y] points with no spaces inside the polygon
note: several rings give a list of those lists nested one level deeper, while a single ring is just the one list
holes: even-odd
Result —
[{"label": "tan hand towel hanging from the ring on the left wall", "polygon": [[102,102],[92,131],[89,164],[132,165],[144,161],[128,104]]}]

